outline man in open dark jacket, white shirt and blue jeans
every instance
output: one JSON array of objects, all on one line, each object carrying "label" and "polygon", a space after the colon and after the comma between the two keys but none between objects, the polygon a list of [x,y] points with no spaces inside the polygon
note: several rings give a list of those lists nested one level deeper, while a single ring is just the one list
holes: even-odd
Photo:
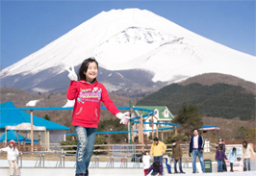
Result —
[{"label": "man in open dark jacket, white shirt and blue jeans", "polygon": [[198,135],[198,130],[193,129],[193,137],[191,138],[190,142],[190,152],[189,156],[192,156],[192,173],[196,173],[196,157],[198,157],[202,172],[205,172],[205,167],[204,167],[204,161],[203,161],[203,149],[204,149],[204,141],[203,138]]}]

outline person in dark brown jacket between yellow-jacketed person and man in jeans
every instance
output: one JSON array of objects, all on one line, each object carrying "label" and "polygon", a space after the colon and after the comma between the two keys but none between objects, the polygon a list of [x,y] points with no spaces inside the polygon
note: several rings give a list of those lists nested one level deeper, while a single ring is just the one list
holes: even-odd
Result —
[{"label": "person in dark brown jacket between yellow-jacketed person and man in jeans", "polygon": [[185,172],[182,170],[182,149],[179,143],[177,143],[176,139],[172,139],[172,158],[174,158],[174,173],[179,173],[177,171],[177,163],[179,163],[180,173]]}]

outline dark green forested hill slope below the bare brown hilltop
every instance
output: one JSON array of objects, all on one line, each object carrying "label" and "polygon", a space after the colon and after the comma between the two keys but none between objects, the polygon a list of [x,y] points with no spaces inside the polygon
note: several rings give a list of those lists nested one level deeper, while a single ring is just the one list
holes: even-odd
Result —
[{"label": "dark green forested hill slope below the bare brown hilltop", "polygon": [[177,114],[183,103],[197,105],[200,113],[207,116],[244,120],[255,116],[255,95],[240,86],[227,84],[171,84],[142,98],[137,105],[166,105],[171,113]]}]

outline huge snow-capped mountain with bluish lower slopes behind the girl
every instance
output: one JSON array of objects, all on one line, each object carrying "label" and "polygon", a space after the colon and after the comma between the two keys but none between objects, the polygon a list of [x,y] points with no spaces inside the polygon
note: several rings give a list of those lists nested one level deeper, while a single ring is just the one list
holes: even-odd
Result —
[{"label": "huge snow-capped mountain with bluish lower slopes behind the girl", "polygon": [[64,90],[69,82],[64,67],[78,68],[89,57],[99,63],[98,80],[115,91],[160,88],[209,72],[256,83],[256,57],[200,37],[155,13],[126,9],[99,13],[1,70],[2,87]]}]

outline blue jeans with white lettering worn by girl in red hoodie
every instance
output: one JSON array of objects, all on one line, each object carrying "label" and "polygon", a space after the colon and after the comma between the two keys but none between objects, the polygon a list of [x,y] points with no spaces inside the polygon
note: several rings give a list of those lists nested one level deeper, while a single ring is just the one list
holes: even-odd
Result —
[{"label": "blue jeans with white lettering worn by girl in red hoodie", "polygon": [[78,138],[76,152],[76,174],[85,174],[90,164],[96,137],[96,128],[75,126]]}]

